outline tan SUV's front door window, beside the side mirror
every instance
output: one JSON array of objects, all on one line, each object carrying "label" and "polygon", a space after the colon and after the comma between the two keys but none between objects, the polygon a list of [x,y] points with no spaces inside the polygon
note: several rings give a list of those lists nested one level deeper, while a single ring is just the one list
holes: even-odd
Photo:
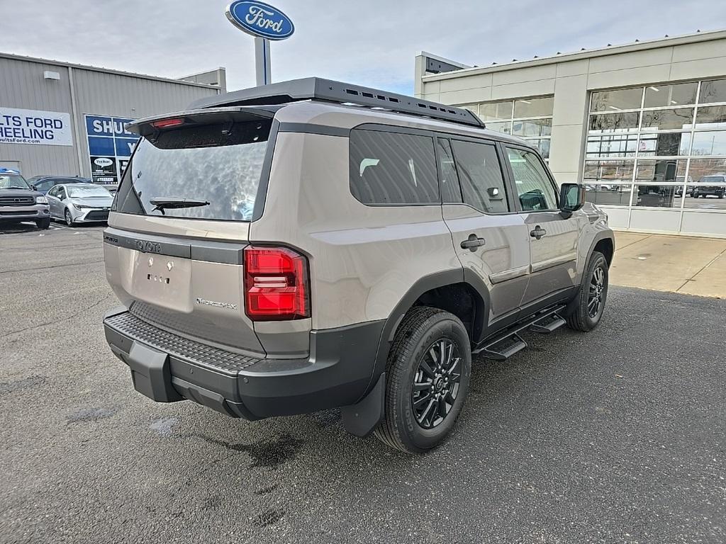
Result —
[{"label": "tan SUV's front door window, beside the side mirror", "polygon": [[557,193],[539,157],[532,152],[513,147],[507,147],[507,157],[512,165],[517,197],[522,210],[525,212],[556,210]]}]

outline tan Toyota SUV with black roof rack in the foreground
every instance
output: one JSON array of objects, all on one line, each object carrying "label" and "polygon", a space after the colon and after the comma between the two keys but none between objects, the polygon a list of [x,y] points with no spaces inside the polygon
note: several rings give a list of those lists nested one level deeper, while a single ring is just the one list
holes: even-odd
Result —
[{"label": "tan Toyota SUV with black roof rack in the foreground", "polygon": [[104,234],[106,338],[147,397],[341,407],[348,432],[423,452],[473,353],[600,321],[605,214],[468,110],[318,78],[192,108],[129,125]]}]

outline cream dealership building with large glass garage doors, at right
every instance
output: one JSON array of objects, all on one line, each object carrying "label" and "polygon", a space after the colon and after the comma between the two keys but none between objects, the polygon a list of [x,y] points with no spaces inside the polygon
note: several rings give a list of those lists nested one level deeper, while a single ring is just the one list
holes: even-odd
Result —
[{"label": "cream dealership building with large glass garage doors, at right", "polygon": [[415,70],[416,96],[531,141],[614,228],[726,237],[726,31]]}]

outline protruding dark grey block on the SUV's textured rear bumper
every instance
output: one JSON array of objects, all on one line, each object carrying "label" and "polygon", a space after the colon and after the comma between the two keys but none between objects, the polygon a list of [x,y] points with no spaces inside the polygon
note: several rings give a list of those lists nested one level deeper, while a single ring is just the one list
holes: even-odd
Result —
[{"label": "protruding dark grey block on the SUV's textured rear bumper", "polygon": [[134,389],[142,395],[158,403],[184,400],[171,384],[168,354],[134,342],[126,363],[131,368]]}]

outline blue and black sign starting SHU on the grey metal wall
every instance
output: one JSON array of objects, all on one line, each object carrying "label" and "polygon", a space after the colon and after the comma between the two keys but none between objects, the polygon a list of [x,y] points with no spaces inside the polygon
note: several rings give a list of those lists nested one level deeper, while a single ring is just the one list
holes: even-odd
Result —
[{"label": "blue and black sign starting SHU on the grey metal wall", "polygon": [[86,115],[91,177],[94,184],[118,184],[134,150],[137,134],[126,130],[133,119]]}]

